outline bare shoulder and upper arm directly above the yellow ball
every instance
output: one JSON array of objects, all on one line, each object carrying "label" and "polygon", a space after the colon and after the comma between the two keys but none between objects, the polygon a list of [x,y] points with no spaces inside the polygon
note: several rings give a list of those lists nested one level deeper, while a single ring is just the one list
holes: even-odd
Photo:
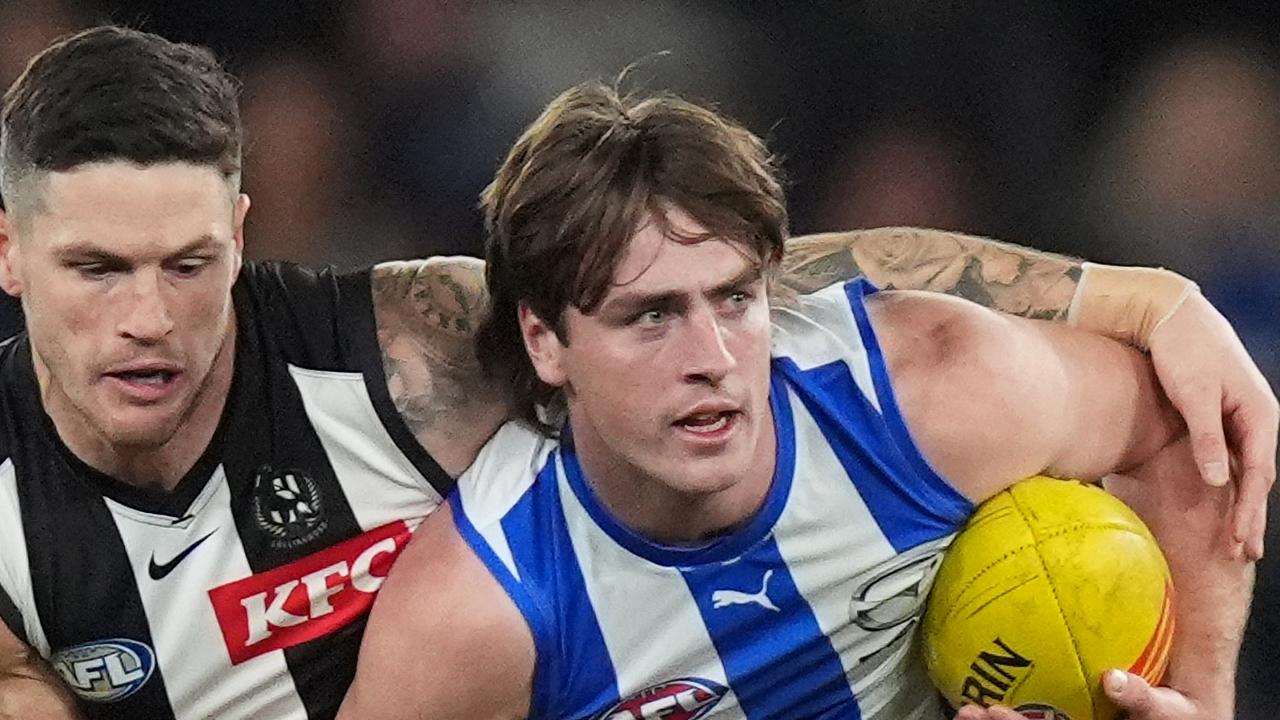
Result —
[{"label": "bare shoulder and upper arm directly above the yellow ball", "polygon": [[920,451],[975,502],[1034,474],[1133,468],[1183,432],[1151,363],[1117,342],[920,292],[868,310]]}]

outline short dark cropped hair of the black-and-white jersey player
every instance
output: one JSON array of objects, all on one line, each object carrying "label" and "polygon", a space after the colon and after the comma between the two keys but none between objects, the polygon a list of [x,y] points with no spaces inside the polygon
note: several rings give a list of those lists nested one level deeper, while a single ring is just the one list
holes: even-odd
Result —
[{"label": "short dark cropped hair of the black-and-white jersey player", "polygon": [[4,95],[0,188],[86,163],[187,161],[239,183],[239,83],[204,47],[101,26],[36,55]]}]

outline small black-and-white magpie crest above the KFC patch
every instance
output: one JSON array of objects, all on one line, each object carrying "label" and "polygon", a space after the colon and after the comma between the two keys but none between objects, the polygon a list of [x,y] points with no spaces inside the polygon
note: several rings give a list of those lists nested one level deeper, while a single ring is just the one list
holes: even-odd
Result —
[{"label": "small black-and-white magpie crest above the KFC patch", "polygon": [[253,519],[273,547],[297,547],[329,525],[320,487],[298,469],[273,471],[264,465],[253,479]]}]

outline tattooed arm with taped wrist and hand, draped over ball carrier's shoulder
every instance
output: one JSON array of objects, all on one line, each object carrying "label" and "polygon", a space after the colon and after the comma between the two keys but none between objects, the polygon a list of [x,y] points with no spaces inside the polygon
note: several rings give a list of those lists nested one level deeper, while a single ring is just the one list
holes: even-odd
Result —
[{"label": "tattooed arm with taped wrist and hand, draped over ball carrier's shoulder", "polygon": [[1156,377],[1190,430],[1204,480],[1221,486],[1228,469],[1239,466],[1231,534],[1249,557],[1261,557],[1280,405],[1226,319],[1198,292],[1181,292],[1183,278],[963,233],[878,228],[791,240],[773,292],[786,302],[859,274],[886,290],[955,295],[1149,347]]}]

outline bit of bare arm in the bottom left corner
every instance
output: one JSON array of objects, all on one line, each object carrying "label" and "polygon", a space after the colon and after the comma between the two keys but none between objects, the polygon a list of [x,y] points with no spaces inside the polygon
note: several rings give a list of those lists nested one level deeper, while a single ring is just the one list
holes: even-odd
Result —
[{"label": "bit of bare arm in the bottom left corner", "polygon": [[0,720],[77,720],[76,701],[27,643],[0,623]]}]

